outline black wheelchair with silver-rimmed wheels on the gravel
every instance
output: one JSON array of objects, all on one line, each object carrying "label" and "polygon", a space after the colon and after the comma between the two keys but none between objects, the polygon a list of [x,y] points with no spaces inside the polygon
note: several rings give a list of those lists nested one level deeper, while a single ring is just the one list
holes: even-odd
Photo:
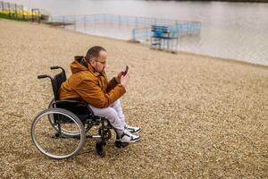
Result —
[{"label": "black wheelchair with silver-rimmed wheels on the gravel", "polygon": [[[31,139],[37,149],[50,158],[73,158],[85,145],[87,138],[96,141],[96,155],[105,157],[105,145],[112,138],[112,125],[104,117],[94,115],[88,105],[79,100],[59,99],[58,91],[66,81],[66,73],[60,66],[52,66],[51,70],[60,69],[61,72],[53,77],[38,75],[38,79],[51,80],[54,98],[48,108],[40,112],[31,124]],[[86,135],[96,126],[97,133]],[[114,130],[116,139],[114,145],[124,148],[128,143],[120,141],[120,136]]]}]

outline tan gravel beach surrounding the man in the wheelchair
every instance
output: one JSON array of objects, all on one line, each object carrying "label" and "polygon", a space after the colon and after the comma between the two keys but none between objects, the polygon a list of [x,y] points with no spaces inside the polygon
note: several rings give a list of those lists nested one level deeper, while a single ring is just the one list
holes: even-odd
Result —
[{"label": "tan gravel beach surrounding the man in the wheelchair", "polygon": [[[0,174],[2,178],[268,178],[268,67],[0,19]],[[130,66],[121,98],[142,141],[98,158],[87,140],[76,158],[38,152],[30,126],[52,98],[60,65],[101,45],[112,78]]]}]

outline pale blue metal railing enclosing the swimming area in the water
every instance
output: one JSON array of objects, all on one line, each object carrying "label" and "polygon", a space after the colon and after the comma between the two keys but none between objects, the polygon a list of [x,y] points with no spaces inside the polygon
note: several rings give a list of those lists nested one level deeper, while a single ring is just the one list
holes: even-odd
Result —
[{"label": "pale blue metal railing enclosing the swimming area in the water", "polygon": [[[94,23],[114,23],[133,26],[132,40],[147,40],[152,36],[151,25],[168,26],[172,36],[180,36],[200,32],[200,21],[176,21],[168,19],[157,19],[147,17],[135,17],[127,15],[113,14],[90,14],[90,15],[68,15],[68,16],[52,16],[49,21],[54,24],[72,25],[73,30],[77,30],[76,26],[84,27]],[[81,26],[82,25],[82,26]]]}]

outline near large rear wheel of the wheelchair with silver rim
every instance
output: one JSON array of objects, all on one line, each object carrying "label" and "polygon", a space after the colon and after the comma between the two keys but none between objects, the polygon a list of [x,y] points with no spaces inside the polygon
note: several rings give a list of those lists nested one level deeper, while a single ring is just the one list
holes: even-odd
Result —
[{"label": "near large rear wheel of the wheelchair with silver rim", "polygon": [[[50,124],[49,116],[56,116],[57,130]],[[61,120],[62,119],[62,120]],[[79,132],[73,137],[61,129]],[[50,158],[71,158],[83,148],[86,134],[80,119],[63,108],[49,108],[39,113],[31,125],[31,138],[38,150]]]}]

